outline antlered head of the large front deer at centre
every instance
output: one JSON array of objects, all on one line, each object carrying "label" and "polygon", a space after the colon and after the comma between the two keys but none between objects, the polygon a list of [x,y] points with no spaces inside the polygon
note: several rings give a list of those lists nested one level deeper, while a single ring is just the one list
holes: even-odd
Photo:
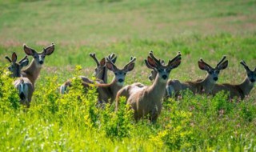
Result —
[{"label": "antlered head of the large front deer at centre", "polygon": [[163,60],[156,58],[153,51],[150,51],[150,56],[145,60],[146,66],[153,70],[151,71],[150,79],[153,80],[158,74],[158,77],[162,78],[163,81],[167,81],[170,71],[180,65],[181,56],[180,52],[178,52],[178,55],[172,60],[169,60],[168,64],[165,65]]}]

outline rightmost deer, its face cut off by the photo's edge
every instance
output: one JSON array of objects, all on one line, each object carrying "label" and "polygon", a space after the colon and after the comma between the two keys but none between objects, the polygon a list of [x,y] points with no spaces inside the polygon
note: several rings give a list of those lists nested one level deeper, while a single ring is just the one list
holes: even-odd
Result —
[{"label": "rightmost deer, its face cut off by the photo's edge", "polygon": [[246,65],[246,62],[243,60],[240,62],[242,66],[246,70],[246,78],[240,84],[216,84],[214,86],[213,94],[217,94],[219,91],[225,91],[229,93],[230,98],[241,98],[244,99],[250,91],[254,88],[255,80],[256,80],[256,67],[254,70],[250,70],[249,66]]}]

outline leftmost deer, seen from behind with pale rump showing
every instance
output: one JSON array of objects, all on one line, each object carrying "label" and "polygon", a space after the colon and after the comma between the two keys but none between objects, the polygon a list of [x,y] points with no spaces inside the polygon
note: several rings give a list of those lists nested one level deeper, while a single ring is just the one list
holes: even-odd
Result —
[{"label": "leftmost deer, seen from behind with pale rump showing", "polygon": [[12,54],[11,59],[7,56],[6,59],[10,62],[8,69],[12,73],[11,76],[16,78],[14,81],[14,87],[18,90],[18,96],[21,99],[20,102],[23,105],[30,107],[34,86],[28,78],[21,77],[22,67],[27,66],[29,64],[29,60],[27,56],[25,56],[22,60],[17,62],[17,54],[15,52]]}]

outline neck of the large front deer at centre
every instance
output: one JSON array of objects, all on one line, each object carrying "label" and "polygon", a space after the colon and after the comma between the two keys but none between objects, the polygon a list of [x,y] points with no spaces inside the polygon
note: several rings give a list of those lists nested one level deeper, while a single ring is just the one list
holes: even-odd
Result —
[{"label": "neck of the large front deer at centre", "polygon": [[166,84],[168,78],[166,80],[162,80],[157,74],[157,77],[154,79],[154,83],[148,87],[148,93],[154,99],[161,99],[166,93]]}]

